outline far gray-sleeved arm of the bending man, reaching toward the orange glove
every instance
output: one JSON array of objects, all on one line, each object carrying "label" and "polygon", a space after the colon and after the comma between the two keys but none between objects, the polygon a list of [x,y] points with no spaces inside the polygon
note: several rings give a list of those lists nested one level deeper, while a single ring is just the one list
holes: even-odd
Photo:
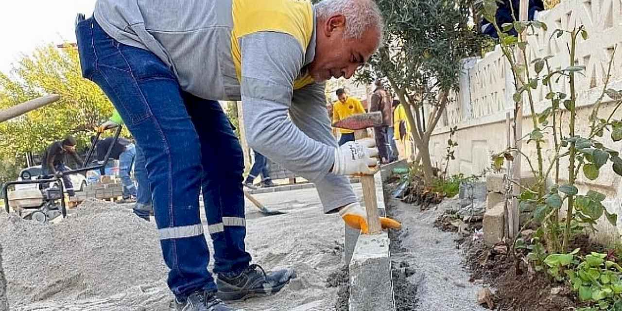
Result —
[{"label": "far gray-sleeved arm of the bending man, reaching toward the orange glove", "polygon": [[[337,148],[337,141],[332,134],[330,119],[326,113],[324,96],[324,84],[313,83],[295,90],[289,115],[292,122],[307,136]],[[345,176],[327,174],[314,183],[325,213],[358,202],[350,181]]]}]

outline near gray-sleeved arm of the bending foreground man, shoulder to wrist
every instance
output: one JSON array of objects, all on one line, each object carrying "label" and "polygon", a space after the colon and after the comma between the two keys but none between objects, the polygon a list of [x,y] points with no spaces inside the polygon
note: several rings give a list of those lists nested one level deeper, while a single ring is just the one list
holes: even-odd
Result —
[{"label": "near gray-sleeved arm of the bending foreground man, shoulder to wrist", "polygon": [[335,161],[335,147],[311,139],[287,116],[304,50],[294,37],[279,32],[255,32],[239,42],[249,146],[305,179],[322,180]]}]

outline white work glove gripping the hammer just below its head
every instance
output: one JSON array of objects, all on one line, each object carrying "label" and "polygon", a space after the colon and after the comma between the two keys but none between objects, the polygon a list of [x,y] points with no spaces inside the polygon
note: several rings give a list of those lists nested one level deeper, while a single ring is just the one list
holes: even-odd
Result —
[{"label": "white work glove gripping the hammer just below its head", "polygon": [[378,156],[376,141],[363,138],[349,141],[335,149],[333,173],[337,175],[374,174]]}]

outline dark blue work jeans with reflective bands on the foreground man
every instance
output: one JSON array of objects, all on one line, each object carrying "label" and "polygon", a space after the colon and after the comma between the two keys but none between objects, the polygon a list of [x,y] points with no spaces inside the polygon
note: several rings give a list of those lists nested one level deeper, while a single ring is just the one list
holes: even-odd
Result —
[{"label": "dark blue work jeans with reflective bands on the foreground man", "polygon": [[203,192],[216,273],[238,272],[246,220],[242,148],[218,101],[180,89],[174,72],[154,53],[119,43],[92,17],[76,28],[82,75],[114,104],[146,160],[168,285],[179,299],[216,290],[199,217]]}]

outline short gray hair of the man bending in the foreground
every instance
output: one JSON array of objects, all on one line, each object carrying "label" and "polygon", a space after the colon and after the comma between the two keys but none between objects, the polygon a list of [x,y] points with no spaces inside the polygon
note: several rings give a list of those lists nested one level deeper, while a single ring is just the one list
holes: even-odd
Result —
[{"label": "short gray hair of the man bending in the foreground", "polygon": [[345,37],[361,39],[363,32],[374,29],[383,40],[384,21],[380,10],[373,0],[322,0],[315,4],[315,16],[325,20],[335,15],[346,17]]}]

